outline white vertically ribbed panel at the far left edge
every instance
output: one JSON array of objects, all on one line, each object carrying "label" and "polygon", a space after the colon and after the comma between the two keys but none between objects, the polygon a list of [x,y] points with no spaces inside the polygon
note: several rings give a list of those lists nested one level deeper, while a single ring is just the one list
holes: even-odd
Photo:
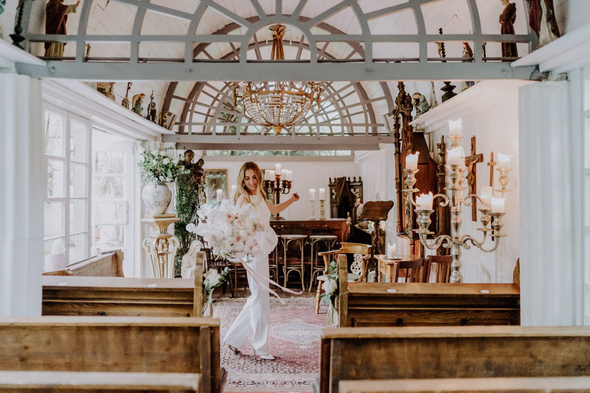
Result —
[{"label": "white vertically ribbed panel at the far left edge", "polygon": [[0,74],[0,316],[41,315],[41,81]]}]

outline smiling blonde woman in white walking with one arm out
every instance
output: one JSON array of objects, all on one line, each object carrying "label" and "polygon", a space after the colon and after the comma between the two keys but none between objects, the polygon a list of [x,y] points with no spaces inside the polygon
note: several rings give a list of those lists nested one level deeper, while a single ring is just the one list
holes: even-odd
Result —
[{"label": "smiling blonde woman in white walking with one arm out", "polygon": [[[260,252],[254,256],[254,260],[248,263],[248,266],[260,276],[268,278],[268,254],[270,254],[277,245],[278,237],[270,227],[270,214],[277,214],[287,209],[289,205],[299,200],[299,195],[293,193],[293,196],[286,202],[274,205],[266,199],[263,191],[263,176],[257,164],[248,161],[242,165],[238,174],[238,189],[234,196],[235,206],[241,207],[244,203],[252,204],[256,209],[256,216],[264,225],[264,230],[256,234],[256,240],[260,245]],[[252,346],[255,354],[260,359],[274,360],[268,349],[268,330],[270,328],[270,293],[268,285],[261,285],[250,272],[248,274],[248,285],[252,293],[244,308],[231,325],[230,330],[224,337],[224,342],[228,348],[238,353],[244,348],[244,344],[250,335],[254,332]]]}]

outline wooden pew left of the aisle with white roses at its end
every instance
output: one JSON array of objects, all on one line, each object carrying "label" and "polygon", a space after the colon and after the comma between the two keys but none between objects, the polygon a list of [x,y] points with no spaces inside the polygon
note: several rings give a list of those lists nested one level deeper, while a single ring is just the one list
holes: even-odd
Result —
[{"label": "wooden pew left of the aisle with white roses at its end", "polygon": [[44,276],[41,313],[201,316],[203,258],[199,252],[194,279]]}]

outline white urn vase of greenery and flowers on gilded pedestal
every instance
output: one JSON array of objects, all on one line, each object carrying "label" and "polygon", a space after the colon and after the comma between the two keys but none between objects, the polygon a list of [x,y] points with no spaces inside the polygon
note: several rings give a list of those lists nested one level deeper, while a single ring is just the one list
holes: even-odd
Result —
[{"label": "white urn vase of greenery and flowers on gilded pedestal", "polygon": [[172,200],[172,191],[166,183],[173,183],[176,176],[187,171],[178,165],[180,156],[172,157],[168,154],[168,151],[172,149],[173,147],[146,150],[142,146],[137,147],[139,152],[137,166],[145,183],[142,199],[149,214],[166,212]]}]

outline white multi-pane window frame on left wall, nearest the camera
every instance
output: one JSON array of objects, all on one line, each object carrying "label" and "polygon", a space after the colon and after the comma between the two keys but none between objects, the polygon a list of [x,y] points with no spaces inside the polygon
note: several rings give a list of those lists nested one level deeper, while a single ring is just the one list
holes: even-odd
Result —
[{"label": "white multi-pane window frame on left wall, nearest the camera", "polygon": [[[50,113],[54,113],[57,115],[60,115],[63,119],[64,119],[64,130],[63,130],[63,137],[64,137],[64,156],[60,157],[60,156],[51,156],[49,154],[45,154],[44,153],[44,173],[45,173],[45,184],[44,184],[44,202],[48,203],[48,202],[63,202],[64,204],[64,235],[63,236],[53,236],[53,237],[45,237],[43,236],[43,242],[47,241],[47,240],[54,240],[54,239],[64,239],[64,247],[65,247],[65,251],[64,251],[64,259],[65,259],[65,265],[71,265],[72,263],[76,263],[79,262],[78,260],[75,261],[70,261],[70,237],[71,236],[76,236],[76,235],[80,235],[83,233],[86,233],[86,250],[85,250],[85,255],[82,259],[80,260],[84,260],[87,259],[90,256],[90,229],[91,229],[91,217],[90,217],[90,211],[91,211],[91,200],[90,200],[90,196],[92,194],[92,184],[91,184],[91,151],[92,151],[92,135],[91,135],[91,124],[90,124],[90,120],[88,120],[87,118],[78,116],[74,113],[71,113],[67,110],[64,110],[62,108],[56,107],[55,105],[49,104],[47,102],[44,101],[43,105],[42,105],[42,110],[43,110],[43,118],[45,119],[45,113],[46,112],[50,112]],[[87,163],[81,163],[79,161],[72,161],[70,158],[70,151],[71,151],[71,122],[74,121],[76,123],[79,124],[83,124],[84,126],[86,126],[87,129]],[[45,124],[45,122],[44,122]],[[43,130],[43,135],[45,135],[45,130]],[[55,161],[62,161],[64,163],[64,187],[65,187],[65,193],[63,197],[48,197],[48,176],[47,176],[47,170],[48,170],[48,161],[49,160],[55,160]],[[87,181],[87,193],[86,193],[86,197],[71,197],[70,196],[70,184],[71,184],[71,179],[70,179],[70,170],[71,170],[71,164],[78,164],[78,165],[82,165],[82,166],[86,166],[86,181]],[[71,232],[70,233],[70,203],[72,200],[86,200],[87,203],[87,217],[86,217],[86,230],[83,230],[81,232]]]}]

